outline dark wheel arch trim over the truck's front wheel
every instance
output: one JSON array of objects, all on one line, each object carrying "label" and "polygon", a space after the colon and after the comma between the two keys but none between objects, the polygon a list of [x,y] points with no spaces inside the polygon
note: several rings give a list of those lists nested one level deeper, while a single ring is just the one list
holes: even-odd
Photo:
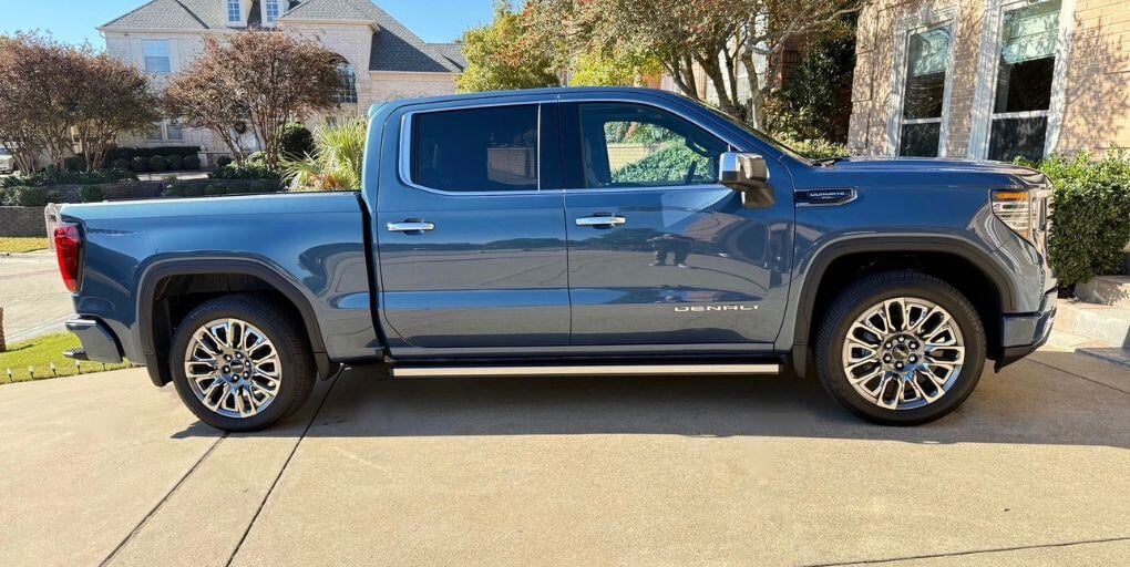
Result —
[{"label": "dark wheel arch trim over the truck's front wheel", "polygon": [[820,250],[806,270],[794,321],[792,365],[803,376],[820,320],[836,294],[860,278],[890,270],[935,276],[973,302],[989,338],[989,357],[1000,356],[1000,315],[1015,311],[1015,289],[1005,269],[984,250],[958,238],[863,237]]}]

